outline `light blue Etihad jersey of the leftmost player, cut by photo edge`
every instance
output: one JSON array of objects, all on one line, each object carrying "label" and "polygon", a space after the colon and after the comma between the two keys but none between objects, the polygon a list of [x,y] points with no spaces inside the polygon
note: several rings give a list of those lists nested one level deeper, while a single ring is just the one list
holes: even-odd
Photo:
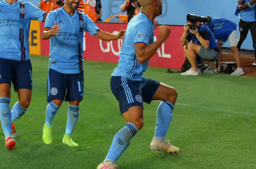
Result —
[{"label": "light blue Etihad jersey of the leftmost player, cut by photo edge", "polygon": [[30,21],[42,22],[46,13],[29,2],[0,1],[0,57],[15,61],[29,59]]}]

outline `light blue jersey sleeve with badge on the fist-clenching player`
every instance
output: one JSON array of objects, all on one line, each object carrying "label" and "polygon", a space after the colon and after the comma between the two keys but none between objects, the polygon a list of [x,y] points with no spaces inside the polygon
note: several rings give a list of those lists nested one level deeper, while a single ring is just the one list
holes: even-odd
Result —
[{"label": "light blue jersey sleeve with badge on the fist-clenching player", "polygon": [[137,24],[134,27],[134,45],[136,44],[144,44],[149,45],[150,35],[153,33],[152,30],[150,30],[150,26],[146,24],[146,26],[143,26],[143,24]]}]

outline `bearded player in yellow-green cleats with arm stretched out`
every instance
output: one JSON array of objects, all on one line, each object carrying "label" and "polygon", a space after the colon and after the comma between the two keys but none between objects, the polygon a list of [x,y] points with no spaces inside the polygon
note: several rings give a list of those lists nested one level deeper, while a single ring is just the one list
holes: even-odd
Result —
[{"label": "bearded player in yellow-green cleats with arm stretched out", "polygon": [[42,38],[51,38],[47,101],[43,141],[52,143],[52,121],[61,103],[69,102],[67,128],[62,142],[78,146],[71,138],[79,116],[79,103],[83,99],[83,34],[88,31],[101,40],[124,38],[125,31],[118,34],[101,31],[88,17],[77,11],[79,0],[66,0],[63,8],[51,11],[45,22]]}]

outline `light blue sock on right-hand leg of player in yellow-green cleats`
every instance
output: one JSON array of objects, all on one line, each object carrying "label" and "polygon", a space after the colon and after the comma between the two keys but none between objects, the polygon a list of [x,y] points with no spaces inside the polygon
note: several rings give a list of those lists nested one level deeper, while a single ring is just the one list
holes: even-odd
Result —
[{"label": "light blue sock on right-hand leg of player in yellow-green cleats", "polygon": [[68,108],[68,121],[65,134],[72,135],[79,116],[79,106],[69,105]]}]

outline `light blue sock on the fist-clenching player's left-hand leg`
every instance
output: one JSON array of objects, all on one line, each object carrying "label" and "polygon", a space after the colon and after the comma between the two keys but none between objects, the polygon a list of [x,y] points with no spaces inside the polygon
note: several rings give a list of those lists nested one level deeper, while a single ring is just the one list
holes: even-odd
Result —
[{"label": "light blue sock on the fist-clenching player's left-hand leg", "polygon": [[109,149],[108,155],[106,156],[106,161],[115,162],[121,154],[127,149],[130,141],[134,135],[139,131],[135,124],[128,122],[124,128],[120,129],[118,133],[114,136],[112,145]]}]

